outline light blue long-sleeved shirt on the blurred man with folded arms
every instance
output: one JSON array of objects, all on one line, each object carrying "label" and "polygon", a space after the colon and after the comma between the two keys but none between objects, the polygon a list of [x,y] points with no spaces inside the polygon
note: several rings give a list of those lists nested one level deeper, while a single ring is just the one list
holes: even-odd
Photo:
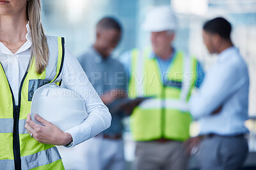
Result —
[{"label": "light blue long-sleeved shirt on the blurred man with folded arms", "polygon": [[[230,47],[218,55],[218,61],[205,74],[202,87],[191,96],[189,108],[200,124],[200,134],[232,136],[248,129],[249,75],[239,50]],[[219,113],[212,112],[222,106]]]}]

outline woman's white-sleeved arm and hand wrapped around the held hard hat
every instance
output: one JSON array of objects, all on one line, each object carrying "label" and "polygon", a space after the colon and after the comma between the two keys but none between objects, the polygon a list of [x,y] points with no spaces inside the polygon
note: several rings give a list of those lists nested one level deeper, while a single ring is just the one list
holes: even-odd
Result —
[{"label": "woman's white-sleeved arm and hand wrapped around the held hard hat", "polygon": [[[35,139],[40,139],[38,141],[53,145],[67,145],[67,143],[72,141],[72,145],[68,146],[72,147],[92,138],[110,126],[111,115],[108,108],[102,103],[97,92],[93,89],[92,84],[88,80],[76,57],[74,57],[67,48],[65,48],[63,70],[57,81],[59,80],[62,80],[62,83],[64,83],[67,89],[74,90],[83,97],[86,103],[88,117],[82,124],[68,129],[65,132],[46,120],[43,121],[46,121],[44,124],[47,124],[47,126],[38,127],[38,125],[33,124],[34,122],[31,122],[31,118],[28,117],[26,129],[29,133],[32,133],[34,137],[36,136]],[[36,120],[38,120],[38,118],[36,118]],[[52,132],[54,132],[54,135],[52,135]],[[72,138],[70,138],[69,134]],[[44,141],[41,139],[44,139]],[[45,139],[47,140],[45,141]]]}]

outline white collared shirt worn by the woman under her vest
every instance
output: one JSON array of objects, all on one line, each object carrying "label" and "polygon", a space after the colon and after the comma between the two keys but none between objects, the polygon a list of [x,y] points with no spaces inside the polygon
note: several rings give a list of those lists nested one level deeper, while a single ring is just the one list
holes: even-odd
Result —
[{"label": "white collared shirt worn by the woman under her vest", "polygon": [[[31,56],[31,34],[28,24],[26,27],[28,30],[26,39],[28,41],[15,54],[0,42],[0,62],[12,88],[16,105],[19,103],[20,82],[26,72]],[[67,89],[74,90],[80,94],[86,102],[86,111],[88,113],[86,120],[82,124],[66,131],[71,134],[73,138],[72,146],[75,146],[107,129],[111,123],[111,115],[97,92],[93,89],[76,57],[72,55],[66,46],[63,69],[58,80],[60,79]]]}]

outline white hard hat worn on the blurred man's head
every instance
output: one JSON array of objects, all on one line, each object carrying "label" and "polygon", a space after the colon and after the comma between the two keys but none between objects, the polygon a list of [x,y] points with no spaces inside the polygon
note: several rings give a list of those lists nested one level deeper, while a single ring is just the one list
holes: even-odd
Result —
[{"label": "white hard hat worn on the blurred man's head", "polygon": [[178,23],[170,6],[157,6],[149,11],[142,27],[150,32],[175,31]]}]

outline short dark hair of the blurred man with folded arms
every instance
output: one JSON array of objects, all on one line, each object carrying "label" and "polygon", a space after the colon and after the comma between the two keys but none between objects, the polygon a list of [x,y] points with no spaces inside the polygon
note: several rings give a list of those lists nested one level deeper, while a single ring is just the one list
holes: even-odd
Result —
[{"label": "short dark hair of the blurred man with folded arms", "polygon": [[204,31],[219,34],[221,38],[230,40],[231,24],[222,17],[205,22]]}]

